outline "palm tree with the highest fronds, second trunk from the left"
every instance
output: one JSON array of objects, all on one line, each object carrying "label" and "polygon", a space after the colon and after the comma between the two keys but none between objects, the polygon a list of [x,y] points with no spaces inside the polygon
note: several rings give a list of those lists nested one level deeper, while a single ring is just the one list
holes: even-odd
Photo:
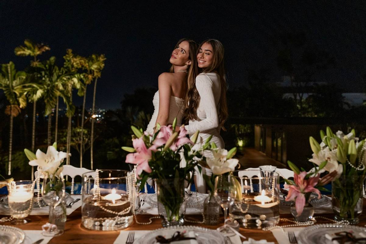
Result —
[{"label": "palm tree with the highest fronds, second trunk from the left", "polygon": [[[32,56],[34,60],[31,60],[30,66],[31,67],[37,67],[40,63],[40,60],[37,59],[38,55],[41,55],[43,52],[51,50],[51,48],[47,45],[41,44],[34,44],[31,40],[24,40],[25,46],[19,46],[14,49],[15,55],[17,56]],[[36,76],[37,77],[37,76]],[[37,80],[36,80],[37,82]],[[32,120],[32,145],[31,149],[32,152],[34,152],[34,146],[35,146],[35,139],[36,139],[36,103],[37,100],[42,95],[42,89],[33,89],[30,92],[29,100],[33,103],[33,120]],[[56,114],[57,115],[57,114]],[[56,117],[57,118],[57,117]],[[57,125],[56,125],[57,129]],[[57,138],[57,133],[56,133]],[[57,139],[56,139],[57,141]],[[34,179],[34,167],[32,166],[32,180]]]}]

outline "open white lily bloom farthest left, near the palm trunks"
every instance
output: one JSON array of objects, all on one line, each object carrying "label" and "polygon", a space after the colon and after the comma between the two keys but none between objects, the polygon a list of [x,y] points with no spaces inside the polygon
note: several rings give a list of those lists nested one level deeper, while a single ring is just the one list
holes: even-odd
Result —
[{"label": "open white lily bloom farthest left, near the palm trunks", "polygon": [[36,152],[37,159],[29,161],[29,165],[39,166],[41,173],[49,175],[49,177],[59,176],[63,169],[60,165],[66,157],[66,152],[59,152],[55,147],[48,146],[46,154],[38,149]]}]

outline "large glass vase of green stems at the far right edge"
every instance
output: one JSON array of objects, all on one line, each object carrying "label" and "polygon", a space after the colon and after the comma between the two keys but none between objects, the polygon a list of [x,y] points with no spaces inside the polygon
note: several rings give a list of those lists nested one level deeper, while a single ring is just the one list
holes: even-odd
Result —
[{"label": "large glass vase of green stems at the far right edge", "polygon": [[351,225],[359,222],[364,178],[360,175],[341,175],[332,182],[332,208],[336,221],[348,221]]}]

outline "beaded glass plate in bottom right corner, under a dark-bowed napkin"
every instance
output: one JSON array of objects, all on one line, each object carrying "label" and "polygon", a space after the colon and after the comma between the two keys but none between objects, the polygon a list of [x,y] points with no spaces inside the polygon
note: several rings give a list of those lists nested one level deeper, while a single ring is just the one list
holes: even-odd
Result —
[{"label": "beaded glass plate in bottom right corner, under a dark-bowed napkin", "polygon": [[302,244],[331,244],[332,241],[325,237],[328,234],[331,238],[337,237],[337,232],[352,231],[356,238],[363,238],[359,233],[366,235],[366,228],[355,225],[340,225],[340,224],[321,224],[311,225],[299,233],[298,240]]}]

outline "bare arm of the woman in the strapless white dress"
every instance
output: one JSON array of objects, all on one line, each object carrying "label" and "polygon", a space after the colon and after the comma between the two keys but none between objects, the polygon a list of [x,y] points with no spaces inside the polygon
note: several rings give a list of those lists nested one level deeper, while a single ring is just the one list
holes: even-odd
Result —
[{"label": "bare arm of the woman in the strapless white dress", "polygon": [[[159,112],[156,118],[156,123],[167,125],[169,120],[170,97],[172,92],[171,74],[162,73],[158,78],[159,87]],[[154,130],[156,132],[156,130]]]}]

